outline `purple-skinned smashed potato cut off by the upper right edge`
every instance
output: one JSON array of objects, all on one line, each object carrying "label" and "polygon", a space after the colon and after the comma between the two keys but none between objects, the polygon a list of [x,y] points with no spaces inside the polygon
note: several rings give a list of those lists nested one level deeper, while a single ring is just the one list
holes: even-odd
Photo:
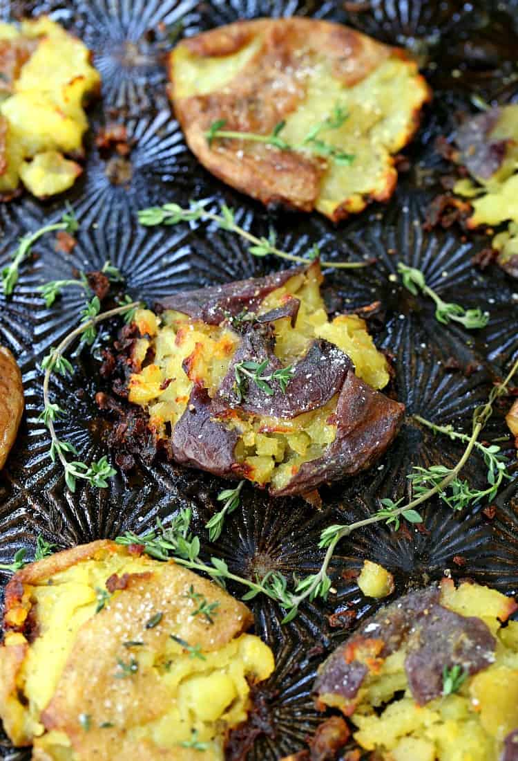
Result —
[{"label": "purple-skinned smashed potato cut off by the upper right edge", "polygon": [[472,179],[459,180],[453,190],[469,199],[469,228],[508,222],[493,238],[497,262],[518,278],[518,105],[493,108],[468,119],[456,133],[453,160]]}]

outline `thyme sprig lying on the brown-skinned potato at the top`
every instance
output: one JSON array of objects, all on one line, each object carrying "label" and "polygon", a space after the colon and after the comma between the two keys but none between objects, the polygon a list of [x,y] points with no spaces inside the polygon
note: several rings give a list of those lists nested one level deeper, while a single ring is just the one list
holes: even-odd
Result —
[{"label": "thyme sprig lying on the brown-skinned potato at the top", "polygon": [[214,140],[245,140],[247,142],[264,143],[265,145],[271,145],[273,148],[278,148],[280,151],[310,151],[317,154],[317,156],[324,156],[331,158],[336,164],[341,166],[349,166],[355,160],[355,156],[346,151],[340,150],[336,145],[330,145],[319,138],[321,132],[327,129],[339,129],[343,123],[346,122],[349,114],[347,111],[336,104],[333,107],[333,112],[327,119],[324,119],[321,123],[312,127],[305,138],[302,140],[301,145],[290,145],[285,139],[281,137],[281,132],[286,127],[286,122],[282,121],[273,127],[273,130],[269,135],[259,135],[257,132],[238,132],[236,130],[223,129],[226,126],[226,119],[218,119],[213,122],[207,132],[205,132],[205,138],[209,146],[213,145]]}]

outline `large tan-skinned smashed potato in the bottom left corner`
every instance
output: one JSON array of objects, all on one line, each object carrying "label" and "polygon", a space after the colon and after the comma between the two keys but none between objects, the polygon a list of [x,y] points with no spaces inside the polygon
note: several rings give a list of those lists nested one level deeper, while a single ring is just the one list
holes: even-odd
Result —
[{"label": "large tan-skinned smashed potato in the bottom left corner", "polygon": [[245,605],[137,549],[78,546],[8,584],[0,717],[33,759],[223,761],[273,671]]}]

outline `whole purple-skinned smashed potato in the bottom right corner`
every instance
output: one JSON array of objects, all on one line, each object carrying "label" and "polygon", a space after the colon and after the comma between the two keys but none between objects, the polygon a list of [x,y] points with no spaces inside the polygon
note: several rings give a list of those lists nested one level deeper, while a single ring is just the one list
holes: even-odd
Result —
[{"label": "whole purple-skinned smashed potato in the bottom right corner", "polygon": [[518,606],[444,580],[366,621],[322,665],[322,705],[383,761],[516,761]]}]

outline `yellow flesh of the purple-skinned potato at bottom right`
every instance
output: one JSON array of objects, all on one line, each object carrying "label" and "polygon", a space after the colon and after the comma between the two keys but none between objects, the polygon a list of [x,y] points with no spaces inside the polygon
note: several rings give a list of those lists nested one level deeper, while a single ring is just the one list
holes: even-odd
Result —
[{"label": "yellow flesh of the purple-skinned potato at bottom right", "polygon": [[494,664],[457,693],[419,706],[406,680],[406,653],[396,651],[379,673],[369,673],[358,692],[351,716],[358,728],[355,740],[383,761],[498,761],[504,737],[518,727],[518,622],[502,629],[497,620],[507,619],[509,602],[476,584],[442,587],[442,605],[482,618],[494,632]]}]

